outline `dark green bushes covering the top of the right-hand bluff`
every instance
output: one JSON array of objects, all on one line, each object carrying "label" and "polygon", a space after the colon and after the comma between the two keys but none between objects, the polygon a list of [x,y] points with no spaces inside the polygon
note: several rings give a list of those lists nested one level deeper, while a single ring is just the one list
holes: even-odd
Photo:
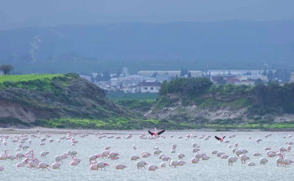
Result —
[{"label": "dark green bushes covering the top of the right-hand bluff", "polygon": [[[206,78],[176,79],[163,82],[160,95],[181,96],[184,103],[194,102],[202,108],[223,107],[228,104],[235,108],[249,107],[252,114],[266,113],[294,114],[294,83],[269,82],[255,86],[234,84],[213,84]],[[185,102],[188,101],[188,102]]]}]

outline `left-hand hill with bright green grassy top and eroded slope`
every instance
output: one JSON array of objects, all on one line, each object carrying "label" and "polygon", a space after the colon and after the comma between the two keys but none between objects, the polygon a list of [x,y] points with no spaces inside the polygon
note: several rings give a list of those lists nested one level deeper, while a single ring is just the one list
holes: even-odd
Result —
[{"label": "left-hand hill with bright green grassy top and eroded slope", "polygon": [[[0,115],[21,121],[129,116],[104,91],[76,74],[1,76]],[[5,111],[8,110],[8,111]]]}]

